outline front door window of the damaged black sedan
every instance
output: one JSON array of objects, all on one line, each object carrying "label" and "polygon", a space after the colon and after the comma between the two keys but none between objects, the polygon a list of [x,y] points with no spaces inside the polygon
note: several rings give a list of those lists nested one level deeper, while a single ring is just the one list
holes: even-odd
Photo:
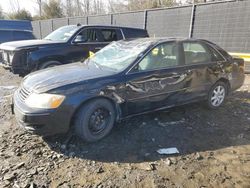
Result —
[{"label": "front door window of the damaged black sedan", "polygon": [[175,42],[160,44],[153,48],[136,66],[134,71],[164,69],[178,65],[178,45]]}]

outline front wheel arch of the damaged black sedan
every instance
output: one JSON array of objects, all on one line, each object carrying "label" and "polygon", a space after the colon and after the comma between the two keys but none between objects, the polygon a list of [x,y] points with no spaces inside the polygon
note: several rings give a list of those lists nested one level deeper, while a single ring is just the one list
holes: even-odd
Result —
[{"label": "front wheel arch of the damaged black sedan", "polygon": [[74,113],[73,113],[73,115],[72,115],[72,117],[71,117],[71,120],[70,120],[70,127],[72,127],[73,121],[74,121],[75,116],[76,116],[76,114],[78,113],[78,111],[79,111],[84,105],[86,105],[87,103],[89,103],[89,102],[91,102],[91,101],[93,101],[93,100],[97,100],[97,99],[106,99],[106,100],[108,100],[108,101],[113,105],[113,107],[114,107],[114,109],[115,109],[115,112],[116,112],[116,120],[119,119],[119,117],[120,117],[120,112],[121,112],[121,111],[120,111],[119,105],[117,105],[117,103],[116,103],[115,101],[113,101],[112,99],[110,99],[110,98],[108,98],[108,97],[98,96],[98,97],[90,98],[90,99],[88,99],[88,100],[82,102],[82,103],[77,107],[77,109],[74,111]]}]

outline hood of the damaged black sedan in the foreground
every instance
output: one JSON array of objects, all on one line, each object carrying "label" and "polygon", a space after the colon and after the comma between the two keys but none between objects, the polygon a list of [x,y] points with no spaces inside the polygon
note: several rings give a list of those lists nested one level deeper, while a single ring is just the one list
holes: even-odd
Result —
[{"label": "hood of the damaged black sedan in the foreground", "polygon": [[112,75],[114,72],[86,65],[73,63],[44,69],[29,74],[23,80],[23,87],[29,91],[43,93],[69,84]]}]

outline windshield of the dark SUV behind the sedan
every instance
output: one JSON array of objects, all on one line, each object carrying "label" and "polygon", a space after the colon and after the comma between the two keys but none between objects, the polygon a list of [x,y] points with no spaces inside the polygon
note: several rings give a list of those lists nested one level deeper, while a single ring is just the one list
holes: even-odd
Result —
[{"label": "windshield of the dark SUV behind the sedan", "polygon": [[60,27],[59,29],[50,33],[44,39],[52,41],[67,41],[77,30],[78,27],[75,25]]}]

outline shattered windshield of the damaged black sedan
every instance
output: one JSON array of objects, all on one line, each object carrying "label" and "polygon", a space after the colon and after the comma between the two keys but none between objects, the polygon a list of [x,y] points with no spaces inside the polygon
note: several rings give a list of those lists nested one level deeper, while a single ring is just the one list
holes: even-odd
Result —
[{"label": "shattered windshield of the damaged black sedan", "polygon": [[112,42],[86,61],[87,63],[94,63],[98,67],[120,72],[133,63],[151,43],[147,40]]}]

